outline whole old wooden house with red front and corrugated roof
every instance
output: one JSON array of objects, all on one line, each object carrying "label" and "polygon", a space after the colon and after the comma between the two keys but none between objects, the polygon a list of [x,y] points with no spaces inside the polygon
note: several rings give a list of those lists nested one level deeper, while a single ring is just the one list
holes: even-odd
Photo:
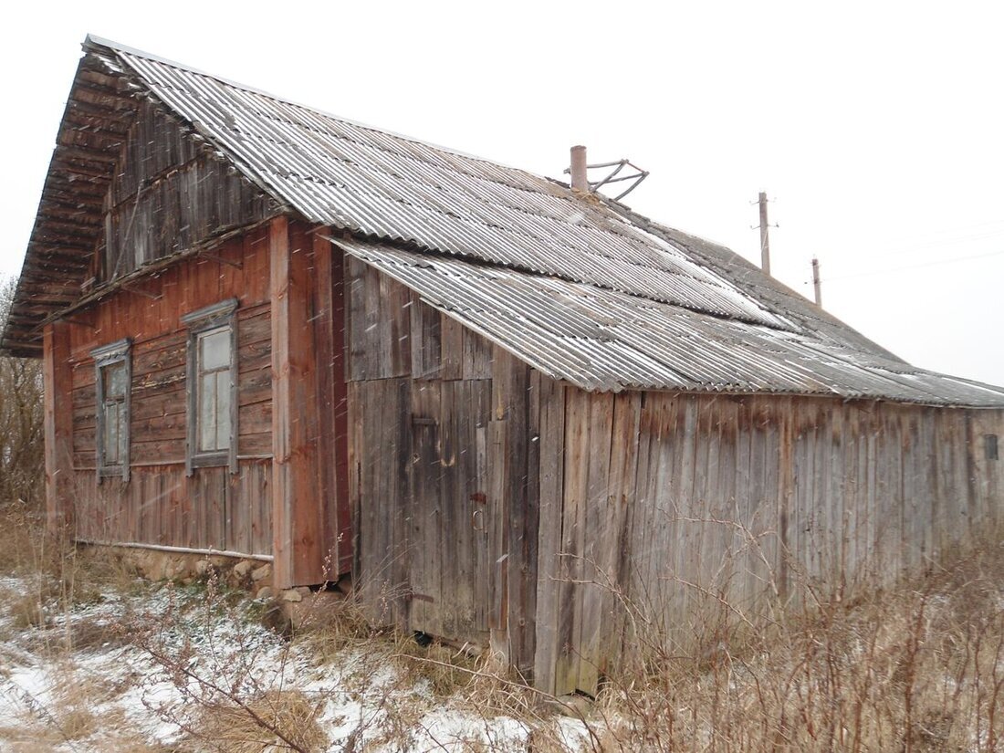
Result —
[{"label": "whole old wooden house with red front and corrugated roof", "polygon": [[351,572],[550,692],[625,596],[686,621],[1001,516],[1004,390],[588,190],[92,37],[2,346],[77,540]]}]

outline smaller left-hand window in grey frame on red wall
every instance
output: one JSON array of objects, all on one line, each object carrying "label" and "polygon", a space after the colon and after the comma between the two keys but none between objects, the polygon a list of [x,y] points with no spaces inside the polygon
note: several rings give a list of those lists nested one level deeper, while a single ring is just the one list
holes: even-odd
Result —
[{"label": "smaller left-hand window in grey frame on red wall", "polygon": [[129,420],[133,364],[130,339],[121,339],[90,351],[94,359],[94,387],[98,481],[120,476],[129,481]]}]

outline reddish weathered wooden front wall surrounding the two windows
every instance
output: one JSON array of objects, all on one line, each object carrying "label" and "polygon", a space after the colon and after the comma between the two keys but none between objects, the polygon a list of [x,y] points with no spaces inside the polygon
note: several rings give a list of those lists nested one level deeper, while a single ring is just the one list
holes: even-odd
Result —
[{"label": "reddish weathered wooden front wall surrounding the two windows", "polygon": [[[268,235],[226,242],[56,322],[69,332],[75,536],[246,554],[272,552],[272,374]],[[181,315],[238,298],[238,474],[185,475],[186,337]],[[97,483],[94,363],[89,351],[133,339],[129,482]],[[58,364],[57,364],[58,365]]]}]

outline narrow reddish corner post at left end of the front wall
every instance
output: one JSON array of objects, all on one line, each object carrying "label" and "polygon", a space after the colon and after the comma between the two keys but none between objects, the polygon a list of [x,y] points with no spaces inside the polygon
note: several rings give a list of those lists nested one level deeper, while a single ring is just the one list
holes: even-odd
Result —
[{"label": "narrow reddish corner post at left end of the front wall", "polygon": [[69,325],[55,321],[42,333],[45,423],[46,527],[58,535],[73,522],[73,406]]}]

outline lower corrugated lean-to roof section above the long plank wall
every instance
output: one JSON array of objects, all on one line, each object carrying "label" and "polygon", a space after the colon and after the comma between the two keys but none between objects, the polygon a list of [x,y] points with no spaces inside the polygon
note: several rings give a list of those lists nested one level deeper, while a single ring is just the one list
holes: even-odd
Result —
[{"label": "lower corrugated lean-to roof section above the long plank wall", "polygon": [[797,393],[1004,406],[1004,390],[798,332],[388,244],[333,242],[544,373],[586,390]]}]

